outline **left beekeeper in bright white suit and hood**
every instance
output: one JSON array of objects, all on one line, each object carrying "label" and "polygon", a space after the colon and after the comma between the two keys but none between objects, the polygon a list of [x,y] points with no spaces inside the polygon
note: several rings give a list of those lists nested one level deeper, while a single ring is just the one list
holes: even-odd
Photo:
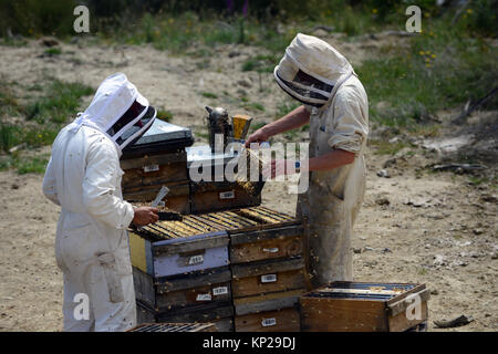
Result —
[{"label": "left beekeeper in bright white suit and hood", "polygon": [[62,208],[55,258],[64,278],[64,331],[136,325],[126,228],[158,217],[157,209],[134,209],[123,201],[120,157],[155,117],[135,85],[117,73],[105,79],[86,111],[53,143],[43,192]]}]

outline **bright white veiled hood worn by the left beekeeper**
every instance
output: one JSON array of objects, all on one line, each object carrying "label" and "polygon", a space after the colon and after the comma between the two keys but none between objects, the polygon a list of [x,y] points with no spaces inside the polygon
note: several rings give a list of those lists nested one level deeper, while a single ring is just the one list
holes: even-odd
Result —
[{"label": "bright white veiled hood worn by the left beekeeper", "polygon": [[71,127],[94,127],[106,134],[117,146],[120,154],[138,139],[154,123],[156,110],[152,107],[125,74],[116,73],[98,86],[92,103],[80,113]]}]

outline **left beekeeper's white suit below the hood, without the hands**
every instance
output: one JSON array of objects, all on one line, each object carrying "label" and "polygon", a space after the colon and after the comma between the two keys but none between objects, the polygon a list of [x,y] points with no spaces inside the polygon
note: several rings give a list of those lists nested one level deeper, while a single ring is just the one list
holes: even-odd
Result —
[{"label": "left beekeeper's white suit below the hood, without the hands", "polygon": [[97,129],[69,126],[53,144],[43,191],[61,206],[55,259],[64,281],[64,331],[136,325],[126,231],[134,211],[123,201],[122,175],[114,143]]}]

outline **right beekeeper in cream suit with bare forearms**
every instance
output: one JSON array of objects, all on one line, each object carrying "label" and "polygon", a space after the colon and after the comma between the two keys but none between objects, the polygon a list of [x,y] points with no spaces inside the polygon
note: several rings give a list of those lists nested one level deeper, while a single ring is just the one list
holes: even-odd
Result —
[{"label": "right beekeeper in cream suit with bare forearms", "polygon": [[309,160],[272,160],[263,174],[273,177],[308,166],[310,185],[299,196],[297,214],[307,219],[312,285],[352,280],[351,237],[365,190],[365,90],[341,53],[301,33],[287,48],[274,79],[303,105],[255,132],[247,146],[310,123]]}]

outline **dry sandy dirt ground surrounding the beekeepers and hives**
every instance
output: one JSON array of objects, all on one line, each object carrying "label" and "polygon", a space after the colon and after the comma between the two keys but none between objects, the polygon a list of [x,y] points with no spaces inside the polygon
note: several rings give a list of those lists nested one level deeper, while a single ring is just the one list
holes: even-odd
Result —
[{"label": "dry sandy dirt ground surrounding the beekeepers and hives", "polygon": [[[384,38],[354,43],[336,37],[326,40],[353,64],[384,43]],[[248,113],[256,123],[268,123],[277,106],[289,102],[271,74],[259,77],[241,71],[243,61],[260,51],[255,48],[219,46],[207,58],[170,56],[149,46],[87,46],[84,41],[62,44],[62,54],[55,56],[44,55],[44,50],[35,41],[2,46],[0,80],[17,83],[15,91],[45,84],[50,77],[96,87],[105,76],[122,71],[154,105],[173,113],[172,123],[193,128],[199,144],[206,142],[198,134],[205,132],[206,105],[222,105],[229,113]],[[201,92],[225,93],[206,98]],[[240,108],[241,96],[266,111]],[[445,122],[457,113],[443,114],[443,126],[449,126]],[[409,137],[412,147],[394,156],[377,155],[373,146],[367,152],[367,190],[353,239],[354,278],[427,284],[429,331],[498,330],[497,190],[487,183],[470,185],[467,174],[427,168],[481,146],[479,156],[489,162],[487,174],[496,174],[496,112],[477,113],[465,132],[448,127],[437,139]],[[378,177],[380,169],[390,178]],[[0,173],[0,331],[62,330],[62,274],[54,258],[59,209],[43,197],[41,183],[41,175]],[[263,205],[293,214],[297,199],[286,187],[267,184]],[[471,315],[474,322],[448,330],[433,324],[460,314]]]}]

